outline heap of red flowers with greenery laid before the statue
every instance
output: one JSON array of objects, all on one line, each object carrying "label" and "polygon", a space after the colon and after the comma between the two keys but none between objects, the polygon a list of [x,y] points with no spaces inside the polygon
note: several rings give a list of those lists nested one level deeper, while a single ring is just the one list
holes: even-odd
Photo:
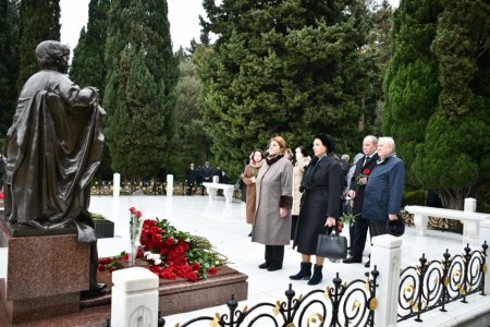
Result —
[{"label": "heap of red flowers with greenery laid before the statue", "polygon": [[[144,220],[139,243],[136,257],[150,264],[148,269],[163,279],[203,279],[226,263],[206,239],[177,231],[167,219]],[[118,257],[101,258],[99,270],[112,271],[117,262]]]}]

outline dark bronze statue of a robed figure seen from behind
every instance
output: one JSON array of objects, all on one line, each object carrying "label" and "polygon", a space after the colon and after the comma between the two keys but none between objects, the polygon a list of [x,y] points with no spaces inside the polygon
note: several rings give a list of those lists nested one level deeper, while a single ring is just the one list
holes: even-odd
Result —
[{"label": "dark bronze statue of a robed figure seen from behind", "polygon": [[[78,242],[91,244],[90,266],[97,269],[87,208],[90,179],[102,156],[106,112],[97,88],[81,88],[66,76],[69,57],[70,49],[59,41],[36,47],[40,71],[23,86],[5,140],[4,219],[11,230],[28,227],[46,234],[76,226]],[[90,274],[90,290],[97,290],[96,271]]]}]

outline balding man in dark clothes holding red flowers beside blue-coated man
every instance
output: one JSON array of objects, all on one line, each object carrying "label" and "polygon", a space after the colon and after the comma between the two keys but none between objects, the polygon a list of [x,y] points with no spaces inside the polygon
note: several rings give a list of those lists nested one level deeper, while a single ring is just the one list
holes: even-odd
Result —
[{"label": "balding man in dark clothes holding red flowers beside blue-coated man", "polygon": [[[356,170],[351,180],[351,189],[348,196],[351,197],[352,214],[356,217],[354,227],[354,240],[351,241],[352,256],[344,259],[344,264],[354,264],[363,262],[363,252],[366,245],[367,231],[369,228],[369,219],[363,217],[363,202],[366,184],[369,179],[369,174],[376,167],[376,162],[379,159],[376,149],[378,148],[378,138],[372,135],[364,137],[362,158],[356,164]],[[366,263],[366,267],[369,267],[369,262]]]}]

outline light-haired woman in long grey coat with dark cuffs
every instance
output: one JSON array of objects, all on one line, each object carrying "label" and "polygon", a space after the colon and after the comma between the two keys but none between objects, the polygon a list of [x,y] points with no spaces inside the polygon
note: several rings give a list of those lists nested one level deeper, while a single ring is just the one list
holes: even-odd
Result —
[{"label": "light-haired woman in long grey coat with dark cuffs", "polygon": [[266,262],[259,268],[282,268],[284,245],[290,244],[291,207],[293,203],[293,165],[284,157],[285,141],[270,140],[269,155],[257,175],[257,209],[252,241],[266,245]]}]

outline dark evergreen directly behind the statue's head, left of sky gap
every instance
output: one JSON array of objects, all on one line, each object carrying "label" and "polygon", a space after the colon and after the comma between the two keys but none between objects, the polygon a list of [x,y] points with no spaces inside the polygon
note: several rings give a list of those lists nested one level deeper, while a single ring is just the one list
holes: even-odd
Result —
[{"label": "dark evergreen directly behind the statue's head, left of sky gap", "polygon": [[38,71],[36,46],[47,39],[60,40],[60,0],[21,1],[19,88]]}]

